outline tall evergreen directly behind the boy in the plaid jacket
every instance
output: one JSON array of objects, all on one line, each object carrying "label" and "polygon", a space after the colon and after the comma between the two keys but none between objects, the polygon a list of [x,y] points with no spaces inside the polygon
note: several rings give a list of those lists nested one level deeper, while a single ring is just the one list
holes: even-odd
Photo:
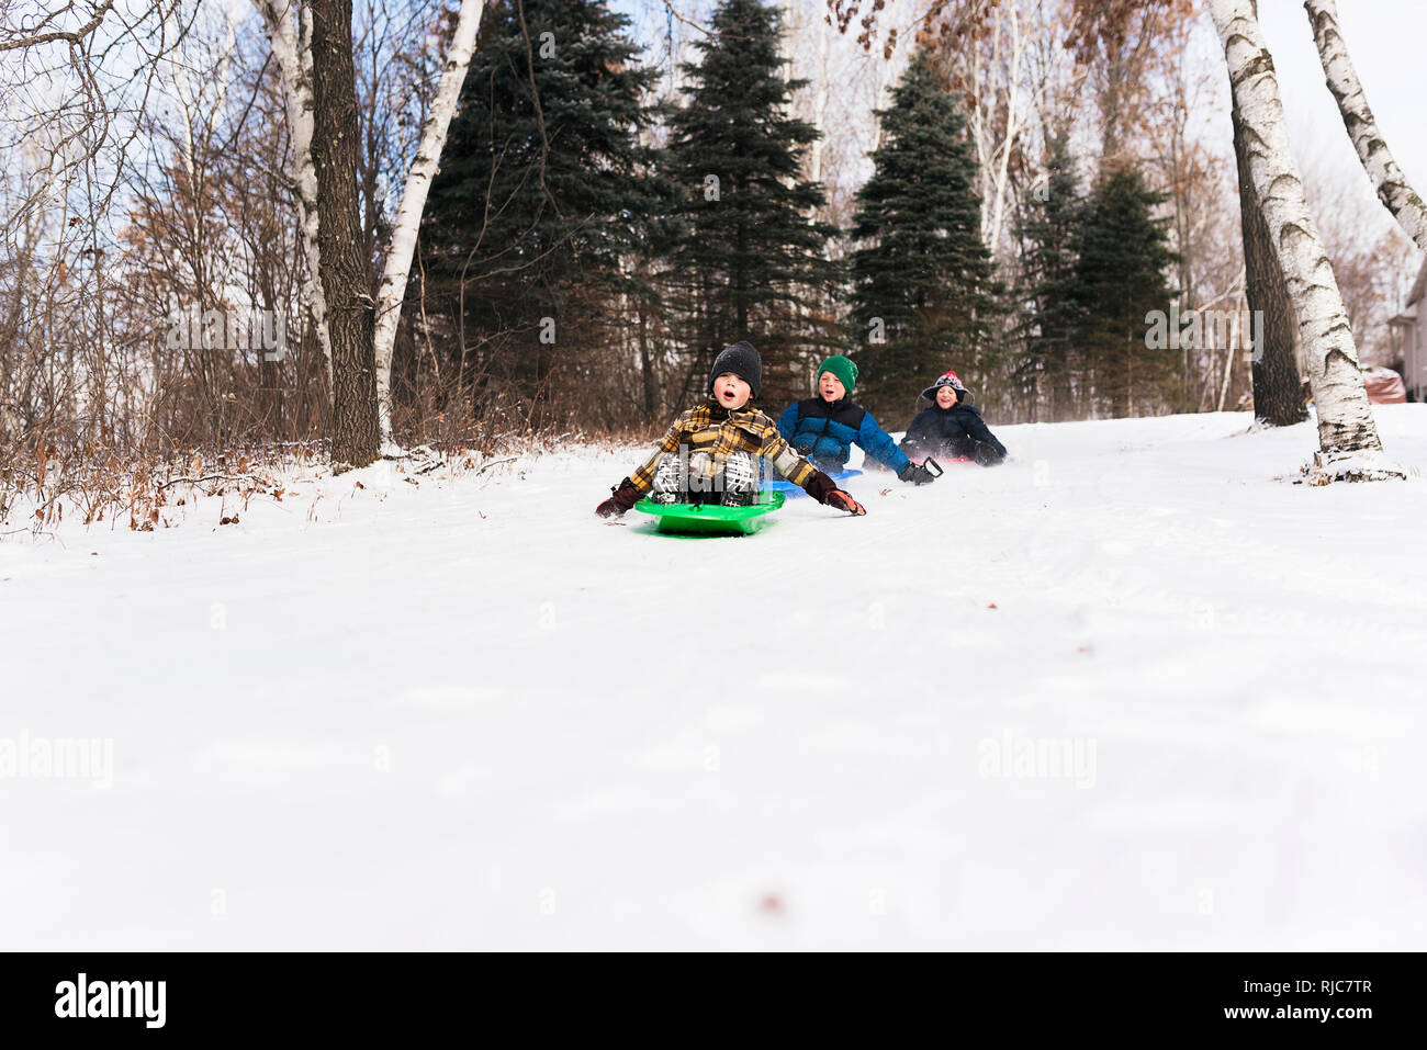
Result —
[{"label": "tall evergreen directly behind the boy in the plaid jacket", "polygon": [[682,237],[664,282],[689,352],[684,397],[702,389],[723,345],[748,340],[763,354],[762,401],[806,397],[802,358],[826,337],[799,308],[826,290],[836,233],[811,221],[822,185],[798,178],[811,124],[788,116],[793,91],[778,53],[779,13],[759,0],[723,0],[696,63],[684,67],[688,103],[671,120],[669,177],[679,185]]}]

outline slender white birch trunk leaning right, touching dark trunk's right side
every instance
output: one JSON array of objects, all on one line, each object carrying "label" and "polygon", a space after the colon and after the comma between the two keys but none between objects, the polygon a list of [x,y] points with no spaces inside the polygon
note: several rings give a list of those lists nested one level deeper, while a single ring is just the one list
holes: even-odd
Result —
[{"label": "slender white birch trunk leaning right, touching dark trunk's right side", "polygon": [[401,191],[391,247],[387,250],[381,284],[377,288],[377,412],[384,452],[397,451],[391,441],[391,354],[397,344],[397,322],[401,320],[401,302],[407,295],[417,231],[421,225],[421,213],[427,207],[431,180],[435,178],[441,160],[441,148],[451,127],[451,116],[461,96],[461,84],[465,83],[465,71],[471,66],[471,53],[475,50],[475,34],[481,27],[484,9],[485,0],[461,0],[461,16],[451,37],[451,50],[441,73],[441,87],[437,88],[431,113],[421,126],[421,143],[417,146],[415,160],[411,161],[407,185]]}]

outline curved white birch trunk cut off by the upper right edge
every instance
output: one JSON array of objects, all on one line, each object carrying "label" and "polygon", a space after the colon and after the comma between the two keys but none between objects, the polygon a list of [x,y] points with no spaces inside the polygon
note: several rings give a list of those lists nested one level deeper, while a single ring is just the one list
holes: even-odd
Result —
[{"label": "curved white birch trunk cut off by the upper right edge", "polygon": [[1407,175],[1393,160],[1383,133],[1377,130],[1377,120],[1373,118],[1367,96],[1363,94],[1363,86],[1353,70],[1353,60],[1349,58],[1347,44],[1343,43],[1337,3],[1334,0],[1307,0],[1303,7],[1313,26],[1313,41],[1319,46],[1319,58],[1323,61],[1329,90],[1337,100],[1339,113],[1343,114],[1343,127],[1347,128],[1347,137],[1353,140],[1363,168],[1373,180],[1373,185],[1377,187],[1377,195],[1387,205],[1387,210],[1393,213],[1407,235],[1417,243],[1417,247],[1427,251],[1427,204],[1423,204],[1423,198],[1413,191]]}]

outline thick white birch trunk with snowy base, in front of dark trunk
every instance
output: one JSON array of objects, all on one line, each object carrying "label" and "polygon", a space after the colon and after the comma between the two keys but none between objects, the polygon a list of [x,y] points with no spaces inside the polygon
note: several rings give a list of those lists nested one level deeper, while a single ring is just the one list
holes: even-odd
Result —
[{"label": "thick white birch trunk with snowy base, in front of dark trunk", "polygon": [[1383,444],[1363,388],[1353,330],[1333,264],[1323,251],[1303,195],[1303,181],[1289,148],[1273,57],[1259,29],[1253,0],[1209,0],[1209,10],[1240,100],[1253,184],[1303,337],[1319,421],[1314,481],[1403,476],[1400,468],[1381,459]]}]

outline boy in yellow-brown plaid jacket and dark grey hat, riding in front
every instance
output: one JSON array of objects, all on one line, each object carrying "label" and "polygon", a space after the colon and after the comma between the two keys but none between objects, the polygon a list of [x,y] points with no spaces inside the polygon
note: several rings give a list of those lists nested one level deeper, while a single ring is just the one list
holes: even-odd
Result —
[{"label": "boy in yellow-brown plaid jacket and dark grey hat, riding in front", "polygon": [[751,404],[758,397],[763,362],[748,342],[725,347],[709,369],[709,397],[679,415],[659,448],[632,475],[611,488],[595,508],[601,518],[624,514],[649,494],[655,502],[746,505],[758,496],[758,458],[813,499],[848,514],[866,514],[832,478],[798,455],[778,427]]}]

